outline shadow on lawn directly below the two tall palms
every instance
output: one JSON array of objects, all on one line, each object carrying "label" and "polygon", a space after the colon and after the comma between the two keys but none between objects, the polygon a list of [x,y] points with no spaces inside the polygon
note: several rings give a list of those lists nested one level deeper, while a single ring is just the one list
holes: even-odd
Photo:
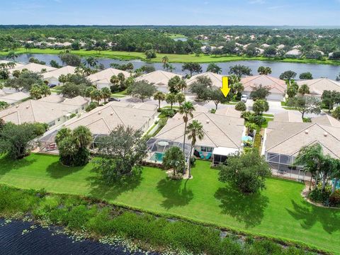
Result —
[{"label": "shadow on lawn directly below the two tall palms", "polygon": [[[183,182],[184,187],[182,188]],[[166,200],[162,202],[164,208],[170,209],[175,206],[188,205],[193,199],[193,192],[186,188],[187,182],[188,180],[172,180],[166,177],[166,179],[162,179],[157,183],[157,190],[166,198]]]}]

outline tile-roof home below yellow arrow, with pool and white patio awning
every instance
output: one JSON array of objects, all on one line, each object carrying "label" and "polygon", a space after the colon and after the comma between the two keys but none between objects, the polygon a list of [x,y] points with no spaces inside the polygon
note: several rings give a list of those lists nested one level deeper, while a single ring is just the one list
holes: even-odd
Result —
[{"label": "tile-roof home below yellow arrow, with pool and white patio awning", "polygon": [[[194,112],[193,119],[203,125],[203,140],[197,140],[193,154],[201,159],[212,159],[212,164],[225,162],[230,154],[242,151],[242,137],[245,134],[244,119],[228,117],[213,113]],[[162,130],[148,142],[148,156],[146,161],[162,164],[164,152],[173,146],[183,147],[184,137],[183,115],[177,113],[169,118]],[[190,155],[191,140],[186,137],[185,156]]]}]

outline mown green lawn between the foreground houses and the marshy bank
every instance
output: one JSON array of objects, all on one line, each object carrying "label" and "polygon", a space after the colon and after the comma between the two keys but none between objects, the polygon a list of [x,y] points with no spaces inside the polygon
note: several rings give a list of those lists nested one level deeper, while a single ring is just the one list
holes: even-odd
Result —
[{"label": "mown green lawn between the foreground houses and the marshy bank", "polygon": [[141,179],[103,186],[92,165],[69,168],[58,157],[31,154],[20,161],[0,159],[0,182],[18,188],[46,188],[103,198],[154,212],[232,227],[254,234],[293,239],[340,253],[340,210],[317,208],[300,196],[303,185],[268,179],[261,195],[242,196],[217,180],[209,162],[198,161],[193,179],[169,181],[164,171],[145,167]]}]

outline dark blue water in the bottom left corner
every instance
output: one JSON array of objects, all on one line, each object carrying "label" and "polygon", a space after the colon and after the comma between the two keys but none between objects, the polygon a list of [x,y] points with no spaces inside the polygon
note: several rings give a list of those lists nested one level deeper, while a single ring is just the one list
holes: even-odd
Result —
[{"label": "dark blue water in the bottom left corner", "polygon": [[[33,223],[0,219],[0,254],[6,255],[156,255],[152,252],[129,251],[120,244],[102,244],[90,240],[75,241],[66,234],[58,234],[59,228],[31,228]],[[28,229],[28,232],[25,230]]]}]

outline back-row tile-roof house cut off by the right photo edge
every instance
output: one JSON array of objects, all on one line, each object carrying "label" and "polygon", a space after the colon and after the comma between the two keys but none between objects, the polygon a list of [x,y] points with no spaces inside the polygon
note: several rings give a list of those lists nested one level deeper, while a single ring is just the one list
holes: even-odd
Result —
[{"label": "back-row tile-roof house cut off by the right photo edge", "polygon": [[325,90],[340,92],[340,82],[327,78],[297,81],[297,85],[301,86],[302,84],[307,84],[310,87],[311,96],[322,96]]}]

